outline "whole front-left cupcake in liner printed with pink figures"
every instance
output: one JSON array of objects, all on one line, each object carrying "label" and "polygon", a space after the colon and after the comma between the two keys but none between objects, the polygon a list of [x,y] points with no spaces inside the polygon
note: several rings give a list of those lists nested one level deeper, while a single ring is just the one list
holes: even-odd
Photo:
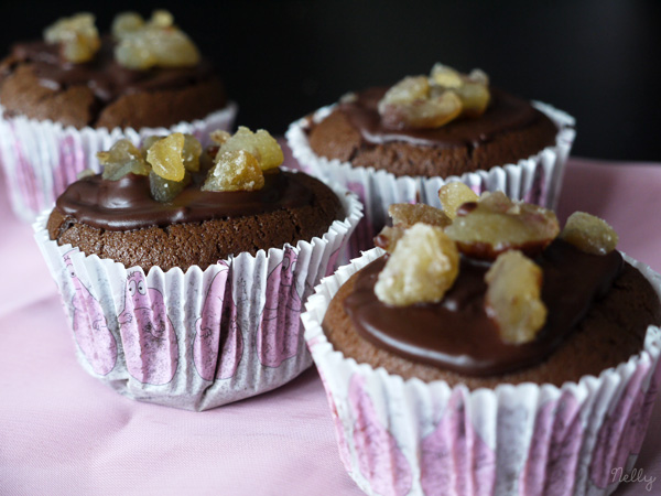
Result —
[{"label": "whole front-left cupcake in liner printed with pink figures", "polygon": [[205,410],[296,377],[303,301],[360,216],[267,131],[213,140],[118,141],[34,226],[78,362],[129,398]]}]

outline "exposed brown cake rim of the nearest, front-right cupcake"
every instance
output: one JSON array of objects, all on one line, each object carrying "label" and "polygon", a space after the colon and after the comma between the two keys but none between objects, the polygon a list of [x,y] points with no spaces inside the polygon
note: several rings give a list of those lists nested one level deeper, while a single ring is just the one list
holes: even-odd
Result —
[{"label": "exposed brown cake rim of the nearest, front-right cupcake", "polygon": [[608,294],[596,302],[570,338],[549,359],[535,367],[494,377],[469,377],[418,364],[381,349],[358,335],[344,311],[344,300],[353,291],[354,274],[332,300],[323,328],[335,349],[358,363],[383,367],[404,379],[445,380],[451,386],[465,384],[469,389],[495,388],[499,384],[553,384],[577,381],[585,375],[627,362],[642,349],[647,327],[661,323],[661,304],[648,280],[629,263]]}]

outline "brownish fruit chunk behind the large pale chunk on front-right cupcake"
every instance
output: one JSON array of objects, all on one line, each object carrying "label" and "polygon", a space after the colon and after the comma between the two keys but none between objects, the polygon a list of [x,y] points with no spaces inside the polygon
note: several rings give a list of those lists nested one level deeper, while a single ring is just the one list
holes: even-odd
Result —
[{"label": "brownish fruit chunk behind the large pale chunk on front-right cupcake", "polygon": [[394,203],[388,207],[388,215],[392,218],[392,227],[383,227],[375,237],[375,245],[389,252],[394,250],[404,231],[414,224],[446,227],[451,223],[443,211],[423,203]]}]

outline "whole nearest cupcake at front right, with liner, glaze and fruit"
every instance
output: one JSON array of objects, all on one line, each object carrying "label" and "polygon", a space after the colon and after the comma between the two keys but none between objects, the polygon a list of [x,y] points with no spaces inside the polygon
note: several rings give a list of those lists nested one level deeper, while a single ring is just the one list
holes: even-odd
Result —
[{"label": "whole nearest cupcake at front right, with liner, glaze and fruit", "polygon": [[392,205],[308,301],[343,463],[368,494],[610,494],[661,379],[661,277],[597,217],[462,186]]}]

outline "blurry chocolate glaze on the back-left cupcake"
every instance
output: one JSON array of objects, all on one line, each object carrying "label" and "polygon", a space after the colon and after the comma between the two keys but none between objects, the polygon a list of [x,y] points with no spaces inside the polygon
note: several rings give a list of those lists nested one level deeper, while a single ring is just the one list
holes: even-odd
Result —
[{"label": "blurry chocolate glaze on the back-left cupcake", "polygon": [[101,39],[101,47],[95,57],[84,64],[73,64],[59,55],[58,44],[43,41],[19,43],[12,47],[12,58],[31,62],[41,84],[51,89],[72,85],[87,85],[102,101],[134,91],[173,89],[208,79],[213,75],[208,61],[192,67],[154,67],[133,71],[115,61],[115,42],[110,36]]}]

